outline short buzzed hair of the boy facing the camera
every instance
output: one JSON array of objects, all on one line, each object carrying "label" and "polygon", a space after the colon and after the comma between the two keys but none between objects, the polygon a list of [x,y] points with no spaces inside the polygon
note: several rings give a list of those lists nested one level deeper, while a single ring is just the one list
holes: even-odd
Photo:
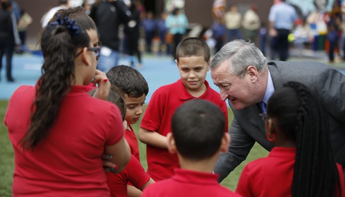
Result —
[{"label": "short buzzed hair of the boy facing the camera", "polygon": [[210,51],[207,43],[198,37],[189,37],[182,40],[176,47],[176,60],[179,58],[203,56],[205,62],[208,63]]}]

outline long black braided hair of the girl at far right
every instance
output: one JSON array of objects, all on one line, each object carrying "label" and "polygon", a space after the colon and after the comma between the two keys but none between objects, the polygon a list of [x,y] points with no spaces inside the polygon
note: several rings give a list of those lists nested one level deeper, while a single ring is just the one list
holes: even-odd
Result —
[{"label": "long black braided hair of the girl at far right", "polygon": [[336,196],[339,173],[328,117],[317,97],[303,84],[288,82],[269,99],[267,115],[276,119],[275,127],[296,140],[292,197]]}]

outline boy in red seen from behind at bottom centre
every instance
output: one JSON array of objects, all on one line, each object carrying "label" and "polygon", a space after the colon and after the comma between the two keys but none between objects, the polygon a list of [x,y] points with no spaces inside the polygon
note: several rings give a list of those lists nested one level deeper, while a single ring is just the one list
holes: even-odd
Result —
[{"label": "boy in red seen from behind at bottom centre", "polygon": [[240,197],[220,186],[212,172],[220,152],[226,152],[230,135],[224,132],[224,114],[215,104],[193,99],[173,114],[168,149],[177,153],[181,168],[172,178],[144,189],[142,197]]}]

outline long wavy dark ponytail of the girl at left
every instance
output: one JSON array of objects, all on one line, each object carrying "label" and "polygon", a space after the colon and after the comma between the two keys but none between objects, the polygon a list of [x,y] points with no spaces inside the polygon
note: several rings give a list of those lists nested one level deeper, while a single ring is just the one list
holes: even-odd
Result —
[{"label": "long wavy dark ponytail of the girl at left", "polygon": [[[78,48],[89,47],[89,35],[78,25],[48,24],[41,36],[44,57],[42,76],[36,85],[31,124],[22,139],[24,148],[34,149],[53,126],[65,95],[74,80],[74,59]],[[80,49],[81,50],[81,49]]]}]

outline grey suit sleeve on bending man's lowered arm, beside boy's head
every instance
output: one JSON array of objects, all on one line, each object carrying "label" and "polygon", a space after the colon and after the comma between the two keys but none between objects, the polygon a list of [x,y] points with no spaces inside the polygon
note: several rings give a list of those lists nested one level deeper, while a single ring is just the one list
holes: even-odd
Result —
[{"label": "grey suit sleeve on bending man's lowered arm, beside boy's head", "polygon": [[255,143],[254,139],[243,131],[235,117],[231,124],[229,134],[231,137],[229,150],[227,153],[220,154],[214,168],[214,171],[219,174],[219,182],[245,160]]}]

